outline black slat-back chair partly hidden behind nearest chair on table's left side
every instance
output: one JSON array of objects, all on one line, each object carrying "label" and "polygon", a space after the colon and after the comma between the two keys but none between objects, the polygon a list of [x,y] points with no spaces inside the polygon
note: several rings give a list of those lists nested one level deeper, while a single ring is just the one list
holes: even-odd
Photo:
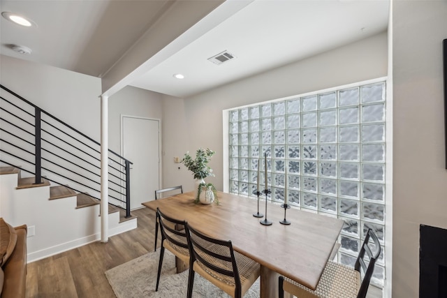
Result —
[{"label": "black slat-back chair partly hidden behind nearest chair on table's left side", "polygon": [[160,223],[161,230],[159,271],[157,272],[155,287],[155,291],[158,291],[165,248],[186,264],[189,264],[190,260],[188,239],[186,238],[186,230],[184,229],[186,221],[180,221],[167,216],[159,208],[156,209],[156,217]]}]

